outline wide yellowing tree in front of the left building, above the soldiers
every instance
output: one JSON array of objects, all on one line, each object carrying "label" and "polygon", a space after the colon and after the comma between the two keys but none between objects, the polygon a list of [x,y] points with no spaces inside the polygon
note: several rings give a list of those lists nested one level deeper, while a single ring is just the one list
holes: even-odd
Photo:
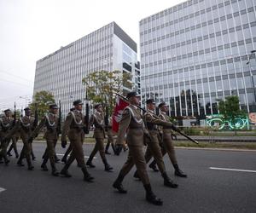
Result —
[{"label": "wide yellowing tree in front of the left building, above the soldiers", "polygon": [[108,103],[109,111],[113,111],[115,93],[122,93],[123,86],[132,88],[131,74],[115,70],[90,72],[83,78],[88,99],[93,103]]}]

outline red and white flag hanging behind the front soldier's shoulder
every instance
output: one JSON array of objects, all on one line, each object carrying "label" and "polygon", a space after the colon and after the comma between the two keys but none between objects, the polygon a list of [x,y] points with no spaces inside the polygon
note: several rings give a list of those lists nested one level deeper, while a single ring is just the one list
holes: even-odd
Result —
[{"label": "red and white flag hanging behind the front soldier's shoulder", "polygon": [[120,98],[119,95],[116,96],[116,103],[115,103],[115,107],[113,110],[113,117],[112,117],[113,119],[112,130],[114,132],[119,131],[119,123],[122,118],[122,113],[125,107],[127,107],[128,105],[129,103],[127,103],[122,98]]}]

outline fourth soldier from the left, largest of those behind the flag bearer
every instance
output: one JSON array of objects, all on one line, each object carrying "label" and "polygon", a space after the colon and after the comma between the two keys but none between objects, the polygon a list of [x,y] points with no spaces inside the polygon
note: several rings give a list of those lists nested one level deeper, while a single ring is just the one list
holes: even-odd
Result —
[{"label": "fourth soldier from the left, largest of those behind the flag bearer", "polygon": [[84,150],[83,150],[83,141],[84,141],[84,124],[85,119],[82,114],[83,102],[81,100],[73,101],[73,106],[75,110],[67,114],[67,118],[64,123],[64,127],[61,134],[61,147],[66,147],[67,145],[67,136],[71,143],[72,153],[67,159],[67,164],[61,170],[61,175],[66,177],[71,177],[68,172],[69,166],[73,163],[73,160],[76,159],[79,166],[81,167],[82,172],[84,173],[84,181],[92,182],[94,179],[88,173],[85,163],[84,163]]}]

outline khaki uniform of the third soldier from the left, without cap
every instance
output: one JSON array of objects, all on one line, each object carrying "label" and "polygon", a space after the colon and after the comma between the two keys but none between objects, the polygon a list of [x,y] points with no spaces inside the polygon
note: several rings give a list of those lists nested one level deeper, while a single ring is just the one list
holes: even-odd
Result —
[{"label": "khaki uniform of the third soldier from the left, without cap", "polygon": [[49,112],[41,122],[38,124],[36,130],[33,131],[32,137],[36,137],[39,131],[45,126],[46,132],[44,134],[44,138],[47,143],[47,147],[44,155],[43,164],[47,164],[49,159],[52,170],[56,170],[55,168],[55,146],[58,141],[58,116],[54,113]]}]

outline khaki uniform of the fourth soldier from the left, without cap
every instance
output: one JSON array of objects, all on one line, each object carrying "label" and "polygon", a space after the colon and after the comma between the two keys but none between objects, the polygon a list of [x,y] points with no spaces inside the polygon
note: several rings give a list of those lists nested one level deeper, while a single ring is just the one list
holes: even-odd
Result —
[{"label": "khaki uniform of the fourth soldier from the left, without cap", "polygon": [[68,136],[70,145],[72,147],[72,153],[66,164],[67,168],[73,163],[74,159],[77,160],[78,164],[82,168],[85,168],[84,150],[82,146],[84,141],[84,124],[85,119],[82,112],[74,110],[73,112],[69,112],[67,114],[61,134],[61,141],[67,141]]}]

